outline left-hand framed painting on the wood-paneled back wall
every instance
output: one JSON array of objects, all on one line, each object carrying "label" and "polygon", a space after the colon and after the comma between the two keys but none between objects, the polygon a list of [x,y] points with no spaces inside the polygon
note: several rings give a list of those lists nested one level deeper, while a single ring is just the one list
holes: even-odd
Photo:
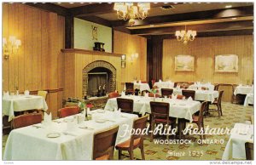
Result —
[{"label": "left-hand framed painting on the wood-paneled back wall", "polygon": [[194,71],[195,57],[192,55],[175,56],[175,71]]}]

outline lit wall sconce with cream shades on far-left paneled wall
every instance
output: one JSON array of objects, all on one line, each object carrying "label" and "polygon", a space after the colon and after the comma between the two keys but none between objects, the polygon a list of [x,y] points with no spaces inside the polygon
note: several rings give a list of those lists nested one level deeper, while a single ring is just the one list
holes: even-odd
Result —
[{"label": "lit wall sconce with cream shades on far-left paneled wall", "polygon": [[3,37],[3,58],[8,60],[9,54],[16,54],[20,45],[21,41],[14,36],[10,36],[8,40]]}]

